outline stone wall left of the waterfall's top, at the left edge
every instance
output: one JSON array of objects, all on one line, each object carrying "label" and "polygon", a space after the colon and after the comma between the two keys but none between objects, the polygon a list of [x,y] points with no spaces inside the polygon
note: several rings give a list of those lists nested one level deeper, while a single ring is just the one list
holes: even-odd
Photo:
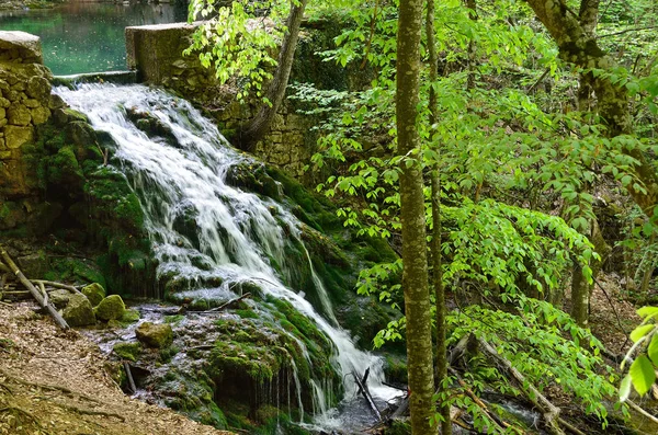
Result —
[{"label": "stone wall left of the waterfall's top, at the left edge", "polygon": [[0,203],[38,194],[29,147],[35,127],[61,105],[50,96],[50,79],[37,36],[0,32]]}]

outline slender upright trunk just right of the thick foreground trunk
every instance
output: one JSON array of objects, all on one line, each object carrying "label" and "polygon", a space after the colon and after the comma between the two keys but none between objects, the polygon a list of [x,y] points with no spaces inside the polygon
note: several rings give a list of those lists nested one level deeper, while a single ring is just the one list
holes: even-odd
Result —
[{"label": "slender upright trunk just right of the thick foreground trunk", "polygon": [[[428,54],[430,61],[430,137],[433,138],[435,124],[439,122],[439,104],[434,83],[439,79],[439,65],[436,57],[436,41],[434,38],[434,0],[428,0],[428,15],[426,20],[426,37],[428,39]],[[441,146],[436,146],[436,154],[441,156]],[[439,392],[443,392],[443,381],[447,376],[447,346],[445,344],[445,291],[443,288],[443,262],[441,259],[441,172],[439,161],[432,169],[432,268],[434,271],[434,306],[436,309],[436,384]],[[450,405],[440,399],[441,434],[452,435],[452,421],[450,419]]]}]

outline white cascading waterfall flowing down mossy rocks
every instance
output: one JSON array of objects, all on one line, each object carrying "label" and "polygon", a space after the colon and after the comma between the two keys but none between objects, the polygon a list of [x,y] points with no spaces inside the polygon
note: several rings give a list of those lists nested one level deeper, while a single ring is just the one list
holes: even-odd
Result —
[{"label": "white cascading waterfall flowing down mossy rocks", "polygon": [[[184,100],[143,85],[83,84],[77,90],[58,88],[56,92],[87,114],[97,130],[107,131],[114,139],[114,158],[145,211],[160,276],[175,275],[196,283],[185,296],[208,299],[229,299],[235,297],[231,284],[258,282],[266,294],[290,301],[313,319],[331,340],[345,398],[355,396],[355,385],[347,375],[363,374],[367,368],[373,396],[382,400],[396,396],[382,384],[381,358],[358,350],[348,332],[338,327],[308,251],[305,255],[319,294],[318,309],[327,312],[327,319],[276,273],[272,261],[285,267],[290,261],[285,255],[286,234],[300,240],[300,224],[276,202],[227,184],[231,167],[256,162],[230,148],[211,122]],[[149,138],[129,119],[129,113],[156,118],[175,140]],[[189,229],[179,231],[177,222],[182,216],[193,220],[192,233]],[[220,285],[208,285],[213,278],[219,278]],[[324,386],[321,380],[311,380],[316,411],[325,412],[318,421],[330,425],[331,419],[326,415],[330,392]],[[297,399],[302,408],[299,391]]]}]

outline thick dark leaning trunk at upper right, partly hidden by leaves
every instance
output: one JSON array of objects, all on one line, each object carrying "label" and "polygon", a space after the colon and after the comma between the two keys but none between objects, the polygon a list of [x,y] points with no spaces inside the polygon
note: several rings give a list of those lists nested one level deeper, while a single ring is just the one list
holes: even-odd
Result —
[{"label": "thick dark leaning trunk at upper right, partly hidden by leaves", "polygon": [[[527,0],[540,21],[555,39],[560,58],[585,69],[612,70],[615,60],[603,51],[593,35],[599,0],[582,0],[577,14],[568,8],[566,0]],[[592,24],[593,23],[593,24]],[[608,125],[608,136],[632,134],[633,126],[628,111],[628,93],[623,87],[613,84],[608,78],[592,78],[591,87],[597,95],[598,111]],[[658,175],[650,161],[638,149],[624,152],[637,160],[636,178],[646,192],[628,187],[631,196],[647,216],[653,216],[658,202]]]}]

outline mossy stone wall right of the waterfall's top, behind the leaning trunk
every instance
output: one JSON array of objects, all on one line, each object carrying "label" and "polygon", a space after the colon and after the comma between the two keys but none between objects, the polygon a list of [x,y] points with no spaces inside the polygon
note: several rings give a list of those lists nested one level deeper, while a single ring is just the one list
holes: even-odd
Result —
[{"label": "mossy stone wall right of the waterfall's top, behind the leaning trunk", "polygon": [[[235,89],[219,85],[214,70],[203,68],[197,56],[182,56],[182,51],[190,46],[190,35],[194,28],[195,25],[185,23],[126,27],[128,67],[136,69],[143,81],[169,88],[202,106],[206,114],[215,117],[219,129],[230,136],[240,124],[252,117],[258,103],[238,102]],[[329,48],[319,46],[331,41],[330,37],[318,38],[321,32],[325,30],[303,30],[297,53],[304,59],[296,61],[291,83],[295,80],[324,81],[331,88],[345,88],[347,72],[322,62],[315,55],[319,49]],[[256,154],[300,179],[304,175],[303,168],[316,147],[316,136],[311,130],[314,123],[314,119],[297,114],[294,103],[286,101],[270,134],[257,145]]]}]

